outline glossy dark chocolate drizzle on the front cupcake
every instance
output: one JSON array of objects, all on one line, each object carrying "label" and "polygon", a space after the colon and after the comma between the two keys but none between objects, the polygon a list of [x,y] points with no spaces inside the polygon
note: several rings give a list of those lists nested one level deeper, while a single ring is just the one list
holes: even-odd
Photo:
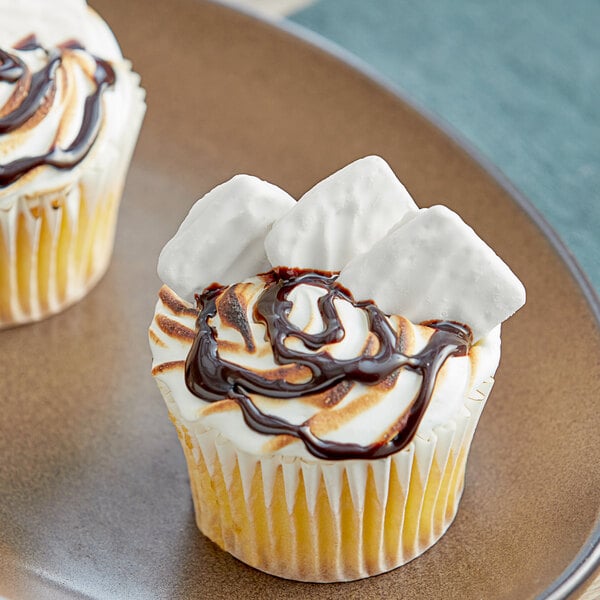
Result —
[{"label": "glossy dark chocolate drizzle on the front cupcake", "polygon": [[[268,380],[259,373],[222,360],[217,349],[217,333],[209,321],[217,314],[217,300],[230,288],[213,286],[198,297],[198,331],[186,360],[186,384],[193,394],[209,402],[234,399],[249,427],[259,433],[297,437],[318,458],[383,458],[410,443],[431,400],[439,370],[449,357],[468,353],[471,332],[467,326],[459,323],[428,322],[427,325],[435,330],[433,335],[425,348],[414,356],[408,356],[401,351],[400,338],[381,310],[370,301],[355,302],[347,290],[335,283],[335,279],[336,275],[332,273],[276,269],[269,274],[266,288],[254,308],[253,318],[265,324],[275,361],[280,365],[307,367],[312,374],[309,381],[294,383],[283,379]],[[321,287],[326,291],[318,300],[324,329],[317,334],[304,332],[288,320],[292,303],[287,297],[301,284]],[[340,341],[345,335],[334,304],[336,299],[350,302],[365,311],[369,330],[379,340],[379,348],[374,355],[339,360],[325,351],[318,351],[327,344]],[[284,342],[290,336],[302,340],[315,353],[301,353],[288,348]],[[367,446],[320,439],[310,430],[309,422],[294,425],[279,417],[264,414],[250,398],[250,394],[260,394],[285,402],[286,399],[329,390],[342,380],[376,385],[403,368],[421,375],[420,390],[401,422],[393,428],[393,437]]]}]

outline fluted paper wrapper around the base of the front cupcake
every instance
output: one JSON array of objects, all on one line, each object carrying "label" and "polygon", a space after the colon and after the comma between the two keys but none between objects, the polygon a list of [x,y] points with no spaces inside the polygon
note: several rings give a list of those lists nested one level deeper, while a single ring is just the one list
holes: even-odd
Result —
[{"label": "fluted paper wrapper around the base of the front cupcake", "polygon": [[493,380],[461,414],[384,459],[322,461],[243,452],[185,421],[159,387],[188,464],[200,530],[243,562],[299,581],[383,573],[430,548],[456,515]]}]

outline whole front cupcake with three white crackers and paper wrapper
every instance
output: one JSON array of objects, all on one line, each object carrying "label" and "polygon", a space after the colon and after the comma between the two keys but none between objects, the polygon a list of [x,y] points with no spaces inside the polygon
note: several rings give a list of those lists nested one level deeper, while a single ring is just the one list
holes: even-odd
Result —
[{"label": "whole front cupcake with three white crackers and paper wrapper", "polygon": [[192,207],[158,270],[152,373],[206,536],[329,582],[443,535],[500,323],[525,302],[460,217],[419,210],[374,156],[297,203],[239,175]]}]

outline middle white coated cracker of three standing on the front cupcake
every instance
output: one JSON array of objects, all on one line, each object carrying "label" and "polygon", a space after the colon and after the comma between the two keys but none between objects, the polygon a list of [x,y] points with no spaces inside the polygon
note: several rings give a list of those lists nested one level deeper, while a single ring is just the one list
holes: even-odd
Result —
[{"label": "middle white coated cracker of three standing on the front cupcake", "polygon": [[389,165],[367,156],[306,192],[265,240],[271,265],[340,271],[417,205]]}]

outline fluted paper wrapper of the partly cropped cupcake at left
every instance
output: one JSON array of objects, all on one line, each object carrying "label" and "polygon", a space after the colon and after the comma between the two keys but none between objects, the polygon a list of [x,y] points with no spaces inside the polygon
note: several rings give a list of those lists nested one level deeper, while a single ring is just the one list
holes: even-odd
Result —
[{"label": "fluted paper wrapper of the partly cropped cupcake at left", "polygon": [[0,329],[63,310],[105,273],[146,108],[143,90],[137,93],[118,148],[90,156],[67,185],[19,195],[8,210],[0,208]]}]

